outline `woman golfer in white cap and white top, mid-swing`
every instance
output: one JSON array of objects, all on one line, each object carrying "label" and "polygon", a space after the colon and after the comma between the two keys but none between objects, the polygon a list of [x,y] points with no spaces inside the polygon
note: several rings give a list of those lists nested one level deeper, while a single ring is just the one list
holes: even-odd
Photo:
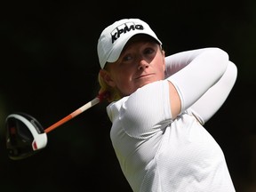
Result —
[{"label": "woman golfer in white cap and white top, mid-swing", "polygon": [[139,19],[117,20],[100,34],[100,92],[108,91],[110,138],[134,192],[235,191],[225,156],[204,124],[236,82],[220,48],[165,57]]}]

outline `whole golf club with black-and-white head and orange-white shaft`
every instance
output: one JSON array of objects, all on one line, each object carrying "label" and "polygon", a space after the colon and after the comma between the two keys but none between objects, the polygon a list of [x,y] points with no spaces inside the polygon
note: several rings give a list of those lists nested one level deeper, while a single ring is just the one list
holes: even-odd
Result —
[{"label": "whole golf club with black-and-white head and orange-white shaft", "polygon": [[27,158],[36,154],[36,152],[45,148],[47,145],[46,133],[65,124],[75,116],[80,115],[85,110],[100,103],[108,98],[108,92],[102,92],[93,100],[87,102],[81,108],[77,108],[68,116],[63,117],[60,121],[52,124],[48,128],[44,127],[34,118],[26,113],[14,113],[6,117],[6,148],[8,156],[12,160]]}]

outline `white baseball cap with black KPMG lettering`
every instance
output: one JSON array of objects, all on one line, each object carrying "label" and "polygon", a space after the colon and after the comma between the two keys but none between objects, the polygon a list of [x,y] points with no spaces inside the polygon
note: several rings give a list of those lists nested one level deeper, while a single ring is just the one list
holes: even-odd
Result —
[{"label": "white baseball cap with black KPMG lettering", "polygon": [[104,68],[107,62],[118,60],[124,45],[132,36],[137,34],[152,36],[159,44],[162,44],[155,32],[143,20],[117,20],[100,34],[97,46],[100,68]]}]

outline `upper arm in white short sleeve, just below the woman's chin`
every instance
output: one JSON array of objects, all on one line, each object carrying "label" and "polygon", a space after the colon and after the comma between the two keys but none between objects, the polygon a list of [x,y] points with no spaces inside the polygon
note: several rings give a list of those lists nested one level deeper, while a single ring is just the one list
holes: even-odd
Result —
[{"label": "upper arm in white short sleeve, just below the woman's chin", "polygon": [[133,92],[120,108],[118,121],[131,137],[151,137],[172,121],[167,81],[144,85]]}]

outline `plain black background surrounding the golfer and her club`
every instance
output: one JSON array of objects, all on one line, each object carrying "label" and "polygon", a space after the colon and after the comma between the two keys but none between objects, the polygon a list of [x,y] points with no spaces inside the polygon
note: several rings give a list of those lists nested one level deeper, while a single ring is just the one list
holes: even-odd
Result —
[{"label": "plain black background surrounding the golfer and her club", "polygon": [[14,112],[46,128],[92,100],[100,32],[123,18],[147,21],[167,55],[209,46],[228,52],[237,81],[205,127],[226,155],[236,191],[256,191],[256,1],[64,2],[0,4],[1,191],[132,191],[109,139],[106,102],[49,132],[46,148],[27,159],[7,156],[4,135]]}]

